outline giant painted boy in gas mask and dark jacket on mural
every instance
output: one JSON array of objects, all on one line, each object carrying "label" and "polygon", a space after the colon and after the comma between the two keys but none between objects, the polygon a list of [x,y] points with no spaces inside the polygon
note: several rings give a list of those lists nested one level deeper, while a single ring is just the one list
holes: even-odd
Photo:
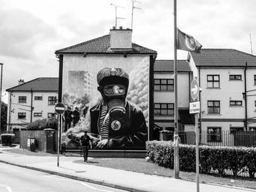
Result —
[{"label": "giant painted boy in gas mask and dark jacket on mural", "polygon": [[102,100],[92,107],[91,133],[99,134],[97,147],[143,147],[146,121],[136,104],[127,101],[129,75],[121,68],[104,68],[97,74]]}]

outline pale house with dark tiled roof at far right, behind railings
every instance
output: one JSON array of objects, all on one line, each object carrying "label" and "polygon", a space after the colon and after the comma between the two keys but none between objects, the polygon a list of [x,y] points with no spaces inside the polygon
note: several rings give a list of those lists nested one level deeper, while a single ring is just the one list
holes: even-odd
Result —
[{"label": "pale house with dark tiled roof at far right, behind railings", "polygon": [[202,88],[200,129],[208,133],[205,142],[224,142],[223,131],[256,131],[256,56],[202,49],[189,53],[188,61],[197,69]]}]

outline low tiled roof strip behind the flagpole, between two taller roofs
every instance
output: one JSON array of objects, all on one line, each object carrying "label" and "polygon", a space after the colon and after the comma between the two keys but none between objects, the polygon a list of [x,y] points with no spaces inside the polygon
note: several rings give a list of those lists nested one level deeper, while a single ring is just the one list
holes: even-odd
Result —
[{"label": "low tiled roof strip behind the flagpole, between two taller roofs", "polygon": [[[154,72],[173,72],[173,60],[156,60],[154,63]],[[189,62],[186,60],[177,60],[178,72],[192,72]]]}]

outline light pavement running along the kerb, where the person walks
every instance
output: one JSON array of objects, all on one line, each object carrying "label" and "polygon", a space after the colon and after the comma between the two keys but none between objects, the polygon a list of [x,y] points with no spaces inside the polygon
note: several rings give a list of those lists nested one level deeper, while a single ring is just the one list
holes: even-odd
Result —
[{"label": "light pavement running along the kerb, where the person walks", "polygon": [[[10,149],[10,148],[9,148]],[[192,192],[196,190],[196,183],[186,180],[161,177],[137,172],[129,172],[120,169],[110,169],[94,166],[90,163],[78,164],[82,157],[59,157],[57,156],[30,156],[8,153],[0,148],[0,162],[20,166],[26,169],[34,169],[39,172],[56,174],[74,180],[96,183],[111,188],[123,189],[134,192]],[[93,158],[89,158],[93,162]],[[237,188],[228,185],[215,185],[211,183],[200,183],[200,191],[207,192],[245,192],[255,191],[249,188]]]}]

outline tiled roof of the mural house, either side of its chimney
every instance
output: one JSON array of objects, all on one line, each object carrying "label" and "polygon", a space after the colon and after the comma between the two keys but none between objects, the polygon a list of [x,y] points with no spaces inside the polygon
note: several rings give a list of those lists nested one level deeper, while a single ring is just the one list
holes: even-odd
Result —
[{"label": "tiled roof of the mural house, either side of its chimney", "polygon": [[[56,50],[56,54],[60,53],[115,53],[110,50],[110,35],[91,39],[87,42],[82,42],[78,45],[66,47],[61,50]],[[151,53],[157,54],[157,51],[142,47],[138,44],[132,43],[132,50],[127,53]]]}]

